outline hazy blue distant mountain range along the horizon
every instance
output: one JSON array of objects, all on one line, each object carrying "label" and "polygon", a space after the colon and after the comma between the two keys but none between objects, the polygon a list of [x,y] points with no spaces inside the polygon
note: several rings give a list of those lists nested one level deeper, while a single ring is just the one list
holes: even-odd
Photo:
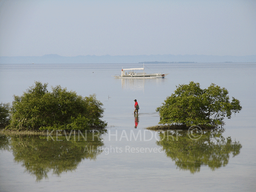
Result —
[{"label": "hazy blue distant mountain range along the horizon", "polygon": [[57,54],[48,54],[36,57],[0,57],[0,64],[83,64],[83,63],[143,63],[143,62],[195,62],[195,63],[222,63],[222,62],[256,62],[256,55],[246,56],[217,56],[217,55],[86,55],[64,57]]}]

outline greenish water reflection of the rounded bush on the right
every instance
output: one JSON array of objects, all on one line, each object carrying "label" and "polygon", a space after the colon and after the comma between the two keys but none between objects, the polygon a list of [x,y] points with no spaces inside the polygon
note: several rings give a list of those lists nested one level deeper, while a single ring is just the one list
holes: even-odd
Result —
[{"label": "greenish water reflection of the rounded bush on the right", "polygon": [[[240,153],[242,145],[222,136],[223,130],[205,131],[197,140],[190,139],[187,131],[160,132],[160,140],[156,142],[163,147],[167,157],[175,161],[180,170],[191,173],[200,172],[201,166],[209,166],[212,171],[226,166],[229,155],[235,157]],[[171,136],[170,136],[171,135]]]}]

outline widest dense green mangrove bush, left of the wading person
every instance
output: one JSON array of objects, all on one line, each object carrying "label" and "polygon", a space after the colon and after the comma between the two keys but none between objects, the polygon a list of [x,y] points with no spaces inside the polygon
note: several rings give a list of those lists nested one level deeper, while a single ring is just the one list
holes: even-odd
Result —
[{"label": "widest dense green mangrove bush, left of the wading person", "polygon": [[103,104],[96,96],[82,97],[61,86],[47,91],[47,83],[35,82],[21,96],[14,95],[9,129],[88,130],[104,128]]}]

